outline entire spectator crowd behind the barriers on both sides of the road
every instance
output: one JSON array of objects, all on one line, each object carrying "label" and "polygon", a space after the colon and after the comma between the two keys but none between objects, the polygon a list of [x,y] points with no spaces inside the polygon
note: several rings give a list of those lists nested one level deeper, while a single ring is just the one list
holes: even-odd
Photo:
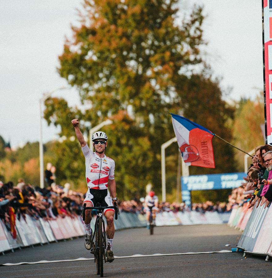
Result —
[{"label": "entire spectator crowd behind the barriers on both sides of the road", "polygon": [[[0,218],[6,226],[10,225],[12,214],[15,214],[18,219],[25,217],[27,213],[36,219],[43,217],[45,220],[54,220],[57,216],[80,215],[84,194],[71,190],[69,183],[66,183],[64,187],[56,185],[55,179],[55,167],[49,163],[45,171],[46,188],[34,187],[25,183],[23,179],[19,179],[17,185],[11,181],[4,184],[0,181]],[[232,190],[228,202],[193,203],[191,208],[185,203],[160,202],[158,211],[193,210],[200,213],[206,211],[223,213],[231,211],[234,205],[243,205],[245,202],[249,202],[249,207],[257,203],[257,206],[264,205],[266,208],[272,201],[270,184],[272,184],[272,146],[258,146],[247,176],[244,177],[244,183]],[[144,198],[118,201],[118,206],[123,212],[145,213]]]}]

